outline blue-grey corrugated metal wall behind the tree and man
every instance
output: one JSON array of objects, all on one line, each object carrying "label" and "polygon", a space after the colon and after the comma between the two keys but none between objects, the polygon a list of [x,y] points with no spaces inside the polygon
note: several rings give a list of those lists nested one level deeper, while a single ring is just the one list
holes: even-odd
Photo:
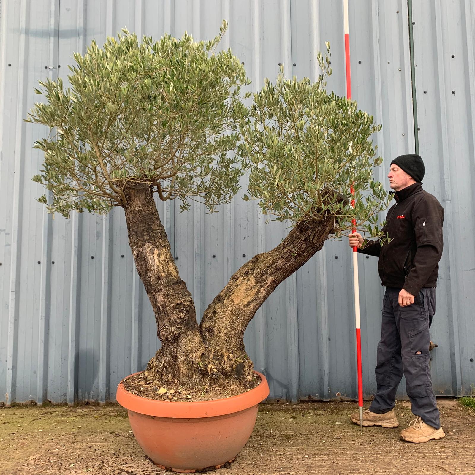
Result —
[{"label": "blue-grey corrugated metal wall behind the tree and man", "polygon": [[[329,87],[344,94],[342,2],[310,0],[1,1],[0,52],[0,401],[114,399],[119,380],[141,370],[158,347],[155,323],[128,247],[123,211],[106,218],[47,215],[30,178],[41,163],[32,144],[45,134],[25,124],[49,76],[66,78],[74,51],[120,28],[213,37],[229,19],[224,47],[244,61],[253,88],[287,75],[318,75],[329,40]],[[475,383],[474,24],[470,0],[414,2],[415,84],[426,190],[446,209],[432,371],[439,395]],[[351,0],[353,98],[383,124],[385,157],[413,152],[408,4]],[[452,55],[454,55],[452,57]],[[245,188],[245,182],[243,181]],[[239,266],[276,246],[285,226],[265,224],[240,196],[214,215],[195,205],[159,210],[198,314]],[[363,382],[375,389],[382,287],[376,260],[360,256]],[[351,252],[327,242],[280,285],[247,329],[247,352],[266,373],[273,399],[356,397]],[[400,395],[404,394],[404,384]]]}]

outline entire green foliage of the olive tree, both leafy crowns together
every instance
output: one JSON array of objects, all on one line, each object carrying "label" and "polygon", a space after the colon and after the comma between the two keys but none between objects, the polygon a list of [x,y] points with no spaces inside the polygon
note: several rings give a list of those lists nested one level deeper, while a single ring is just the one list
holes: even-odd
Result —
[{"label": "entire green foliage of the olive tree, both leafy crowns together", "polygon": [[[210,211],[228,202],[248,173],[245,199],[261,211],[297,224],[323,215],[335,230],[377,234],[377,213],[388,194],[373,179],[382,158],[371,136],[380,130],[355,101],[326,90],[330,45],[319,80],[265,80],[254,93],[243,64],[210,41],[164,35],[159,41],[126,29],[95,41],[61,78],[40,82],[28,122],[50,128],[35,146],[44,152],[33,180],[50,191],[39,201],[66,217],[72,210],[107,213],[126,206],[127,184],[150,184],[160,199],[201,200]],[[350,185],[355,190],[352,209]]]}]

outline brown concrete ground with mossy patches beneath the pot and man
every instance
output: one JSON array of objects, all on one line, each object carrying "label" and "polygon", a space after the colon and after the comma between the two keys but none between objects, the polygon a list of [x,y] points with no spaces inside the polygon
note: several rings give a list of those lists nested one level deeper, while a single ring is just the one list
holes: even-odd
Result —
[{"label": "brown concrete ground with mossy patches beneath the pot and man", "polygon": [[[447,436],[427,444],[399,440],[412,418],[399,402],[399,428],[363,428],[350,402],[265,405],[236,461],[218,471],[250,474],[475,475],[475,414],[440,399]],[[117,405],[0,409],[0,474],[164,474],[144,456]]]}]

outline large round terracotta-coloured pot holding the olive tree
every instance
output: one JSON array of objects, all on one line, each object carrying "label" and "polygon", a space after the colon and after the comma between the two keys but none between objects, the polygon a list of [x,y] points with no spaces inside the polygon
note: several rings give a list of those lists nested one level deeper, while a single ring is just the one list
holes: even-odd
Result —
[{"label": "large round terracotta-coloured pot holding the olive tree", "polygon": [[156,401],[117,387],[133,435],[153,462],[174,472],[197,472],[232,462],[251,435],[257,405],[269,395],[264,375],[253,390],[225,399]]}]

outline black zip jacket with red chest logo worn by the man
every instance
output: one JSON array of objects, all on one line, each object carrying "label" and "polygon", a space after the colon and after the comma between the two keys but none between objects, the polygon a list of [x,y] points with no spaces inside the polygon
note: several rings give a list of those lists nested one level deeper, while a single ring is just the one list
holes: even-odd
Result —
[{"label": "black zip jacket with red chest logo worn by the man", "polygon": [[382,285],[418,295],[422,287],[437,286],[444,209],[421,183],[396,191],[394,199],[383,227],[390,242],[381,246],[380,240],[366,241],[358,252],[380,257]]}]

